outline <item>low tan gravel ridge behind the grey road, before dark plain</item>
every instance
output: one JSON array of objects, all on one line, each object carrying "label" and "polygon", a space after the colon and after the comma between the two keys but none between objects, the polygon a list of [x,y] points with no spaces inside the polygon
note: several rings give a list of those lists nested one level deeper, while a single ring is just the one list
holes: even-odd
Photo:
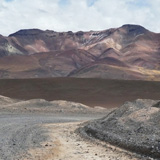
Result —
[{"label": "low tan gravel ridge behind the grey road, before dark plain", "polygon": [[44,99],[14,100],[8,97],[0,96],[0,111],[11,113],[103,113],[108,112],[104,108],[91,108],[81,103],[56,100],[46,101]]}]

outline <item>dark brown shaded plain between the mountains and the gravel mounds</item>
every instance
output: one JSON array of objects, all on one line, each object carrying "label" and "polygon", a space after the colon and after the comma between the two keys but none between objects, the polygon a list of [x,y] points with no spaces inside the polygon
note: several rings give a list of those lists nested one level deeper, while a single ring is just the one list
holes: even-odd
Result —
[{"label": "dark brown shaded plain between the mountains and the gravel mounds", "polygon": [[0,95],[15,99],[67,100],[119,107],[135,99],[159,99],[160,82],[95,78],[0,79]]}]

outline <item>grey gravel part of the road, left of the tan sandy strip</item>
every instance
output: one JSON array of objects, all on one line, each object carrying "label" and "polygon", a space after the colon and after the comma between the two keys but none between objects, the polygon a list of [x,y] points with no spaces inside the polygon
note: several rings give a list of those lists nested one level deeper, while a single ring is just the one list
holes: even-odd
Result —
[{"label": "grey gravel part of the road, left of the tan sandy strip", "polygon": [[87,116],[64,115],[0,115],[0,160],[30,157],[29,148],[41,147],[47,139],[45,124],[76,122],[92,119]]}]

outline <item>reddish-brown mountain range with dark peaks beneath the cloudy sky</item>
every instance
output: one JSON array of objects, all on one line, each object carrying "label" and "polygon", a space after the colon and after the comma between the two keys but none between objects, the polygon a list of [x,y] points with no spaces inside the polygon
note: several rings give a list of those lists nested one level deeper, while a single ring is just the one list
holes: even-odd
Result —
[{"label": "reddish-brown mountain range with dark peaks beneath the cloudy sky", "polygon": [[0,35],[0,78],[160,80],[160,34],[139,25],[103,31]]}]

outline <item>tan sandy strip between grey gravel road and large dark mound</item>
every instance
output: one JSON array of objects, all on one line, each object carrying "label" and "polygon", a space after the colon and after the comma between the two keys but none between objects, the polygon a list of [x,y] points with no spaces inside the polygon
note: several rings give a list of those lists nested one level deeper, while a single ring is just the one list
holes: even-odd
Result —
[{"label": "tan sandy strip between grey gravel road and large dark mound", "polygon": [[[98,140],[87,140],[75,133],[80,122],[47,124],[49,139],[43,148],[29,150],[34,160],[142,160],[127,152]],[[31,159],[31,158],[29,158]],[[25,160],[28,160],[27,158]],[[145,159],[146,160],[146,159]]]}]

